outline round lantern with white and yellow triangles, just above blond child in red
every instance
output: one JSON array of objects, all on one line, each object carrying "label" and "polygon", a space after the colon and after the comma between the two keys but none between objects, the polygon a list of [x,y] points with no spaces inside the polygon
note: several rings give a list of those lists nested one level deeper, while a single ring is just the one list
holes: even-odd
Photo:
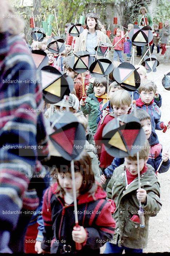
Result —
[{"label": "round lantern with white and yellow triangles, just above blond child in red", "polygon": [[140,86],[140,76],[135,67],[128,62],[123,62],[115,68],[113,77],[127,91],[135,91]]}]

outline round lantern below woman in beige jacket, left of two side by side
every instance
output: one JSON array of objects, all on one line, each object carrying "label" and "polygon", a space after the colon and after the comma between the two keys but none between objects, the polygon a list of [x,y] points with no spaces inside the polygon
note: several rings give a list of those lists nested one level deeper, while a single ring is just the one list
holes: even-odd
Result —
[{"label": "round lantern below woman in beige jacket, left of two side by side", "polygon": [[93,57],[87,51],[80,51],[74,53],[74,56],[70,59],[70,67],[76,73],[84,73],[89,70],[90,65],[93,63]]}]

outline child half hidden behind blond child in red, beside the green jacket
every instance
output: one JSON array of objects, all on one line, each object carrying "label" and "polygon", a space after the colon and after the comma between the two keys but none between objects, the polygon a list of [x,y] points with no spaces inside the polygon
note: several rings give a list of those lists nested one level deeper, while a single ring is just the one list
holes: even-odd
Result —
[{"label": "child half hidden behind blond child in red, beside the green jacket", "polygon": [[[110,86],[108,87],[108,95],[111,96],[112,93],[114,93],[115,91],[118,91],[118,90],[123,90],[123,88],[120,85],[118,85],[116,82],[112,82],[110,84]],[[106,108],[107,108],[107,102],[103,105],[102,109],[99,110],[97,123],[99,123],[100,120],[108,114]],[[110,106],[110,101],[108,102],[108,108],[109,108],[109,113],[113,112],[113,110]]]}]

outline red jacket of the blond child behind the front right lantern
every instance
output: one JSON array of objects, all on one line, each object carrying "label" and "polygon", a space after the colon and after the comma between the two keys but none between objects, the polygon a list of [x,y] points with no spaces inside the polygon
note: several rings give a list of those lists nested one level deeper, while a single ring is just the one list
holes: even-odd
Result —
[{"label": "red jacket of the blond child behind the front right lantern", "polygon": [[96,143],[96,146],[97,146],[96,148],[97,148],[97,151],[98,151],[98,157],[99,157],[101,168],[106,168],[108,165],[111,165],[111,162],[114,159],[114,157],[111,157],[111,155],[109,155],[106,152],[104,144],[102,143],[103,128],[114,117],[115,117],[114,114],[110,113],[110,114],[107,114],[107,116],[105,116],[104,118],[102,118],[101,121],[98,124],[97,131],[94,135],[94,140],[95,140],[95,143]]}]

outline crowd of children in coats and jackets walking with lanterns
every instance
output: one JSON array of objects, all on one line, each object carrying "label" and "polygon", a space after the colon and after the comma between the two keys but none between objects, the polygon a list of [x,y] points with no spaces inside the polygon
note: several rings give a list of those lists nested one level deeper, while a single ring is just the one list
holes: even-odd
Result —
[{"label": "crowd of children in coats and jackets walking with lanterns", "polygon": [[[128,30],[132,29],[130,25]],[[68,24],[66,29],[67,27]],[[161,38],[166,35],[164,33],[166,27],[168,26],[165,22]],[[67,33],[67,30],[65,32]],[[159,31],[155,27],[155,33],[157,32]],[[154,37],[158,36],[154,35]],[[121,30],[117,29],[113,44],[116,44],[120,38]],[[64,40],[66,39],[67,35],[64,37]],[[67,100],[64,99],[48,107],[46,105],[44,117],[50,118],[55,113],[60,116],[63,110],[69,109],[83,124],[87,147],[79,160],[74,161],[80,229],[74,229],[70,161],[51,152],[52,158],[48,163],[46,162],[46,165],[53,166],[51,171],[57,178],[53,178],[51,185],[44,192],[40,207],[42,216],[39,216],[41,219],[39,218],[38,221],[39,232],[35,237],[35,251],[74,253],[75,243],[79,243],[82,246],[82,253],[91,251],[99,253],[100,247],[106,243],[104,253],[122,253],[123,250],[141,253],[147,245],[149,217],[156,216],[162,206],[160,185],[156,175],[158,166],[163,160],[159,173],[167,172],[170,167],[169,153],[162,153],[162,145],[155,133],[157,129],[168,127],[167,123],[160,121],[159,108],[162,99],[157,86],[153,81],[147,80],[146,69],[143,66],[135,67],[138,68],[141,85],[134,91],[135,106],[133,106],[131,93],[115,82],[112,72],[109,74],[108,91],[107,79],[105,77],[90,79],[88,71],[83,75],[84,82],[86,81],[83,83],[82,75],[76,73],[70,66],[71,45],[66,45],[67,56],[63,57],[48,52],[45,41],[40,45],[49,57],[48,64],[63,70],[74,81],[74,90]],[[119,65],[115,61],[117,56],[120,62],[124,61],[121,55],[122,47],[117,45],[114,48],[114,67]],[[130,55],[128,58],[130,59]],[[138,189],[137,155],[125,158],[111,157],[102,143],[102,132],[109,121],[124,114],[134,115],[134,112],[146,134],[145,145],[139,151],[142,187],[140,189]],[[64,170],[63,165],[66,167]],[[145,216],[143,229],[140,228],[138,215],[139,200]],[[27,239],[28,237],[27,234]],[[26,252],[29,253],[30,248],[27,248]]]}]

